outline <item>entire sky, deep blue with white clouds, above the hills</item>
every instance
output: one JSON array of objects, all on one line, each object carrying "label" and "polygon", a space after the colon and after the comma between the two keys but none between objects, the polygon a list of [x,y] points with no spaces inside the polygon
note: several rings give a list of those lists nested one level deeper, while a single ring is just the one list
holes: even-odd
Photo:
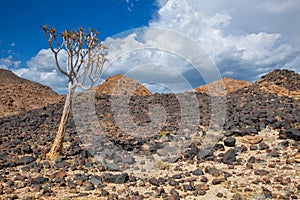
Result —
[{"label": "entire sky, deep blue with white clouds, above the hills", "polygon": [[[220,77],[253,82],[276,68],[300,72],[299,10],[296,0],[2,0],[0,68],[64,93],[66,78],[39,28],[48,24],[101,32],[110,65],[99,83],[118,73],[152,92]],[[204,54],[209,64],[199,62]]]}]

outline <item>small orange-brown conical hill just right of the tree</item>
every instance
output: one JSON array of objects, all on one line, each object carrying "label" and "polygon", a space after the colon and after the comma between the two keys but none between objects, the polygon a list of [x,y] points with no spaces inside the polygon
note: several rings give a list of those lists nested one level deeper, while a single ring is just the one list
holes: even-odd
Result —
[{"label": "small orange-brown conical hill just right of the tree", "polygon": [[120,74],[110,76],[104,83],[93,88],[94,91],[102,94],[147,96],[152,93],[142,84]]}]

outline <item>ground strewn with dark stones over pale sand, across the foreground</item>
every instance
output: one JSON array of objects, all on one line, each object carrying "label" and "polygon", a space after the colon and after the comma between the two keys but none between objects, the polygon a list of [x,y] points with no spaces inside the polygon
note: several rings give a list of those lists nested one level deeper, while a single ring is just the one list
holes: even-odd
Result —
[{"label": "ground strewn with dark stones over pale sand, across the foreground", "polygon": [[[132,118],[140,127],[154,120],[151,105],[160,104],[164,108],[166,119],[162,129],[149,136],[141,133],[143,137],[120,129],[114,116],[113,97],[97,93],[96,121],[92,123],[99,122],[103,133],[92,126],[79,126],[74,112],[68,122],[63,155],[55,162],[46,160],[45,154],[55,136],[63,102],[2,117],[0,198],[299,199],[300,102],[293,96],[276,95],[261,87],[265,81],[276,84],[278,76],[284,80],[282,87],[299,91],[300,87],[295,87],[299,74],[276,70],[254,84],[227,93],[223,131],[216,133],[218,141],[210,149],[203,149],[205,144],[198,138],[208,136],[212,117],[212,97],[202,92],[195,93],[200,112],[196,127],[193,122],[182,122],[178,97],[186,94],[125,98],[129,112],[127,116],[120,115]],[[81,98],[85,98],[84,94]],[[83,108],[81,114],[90,116],[85,112]],[[182,126],[186,127],[182,132],[189,142],[180,154],[165,160],[155,159],[167,144],[176,142]],[[123,163],[133,170],[119,168],[117,160],[122,158],[110,149],[107,154],[115,163],[100,162],[92,151],[87,151],[88,145],[79,134],[82,130],[92,138],[91,142],[100,137],[94,142],[106,139],[122,151],[132,153],[133,156],[123,158]],[[140,162],[135,159],[139,156],[134,155],[152,163]]]}]

